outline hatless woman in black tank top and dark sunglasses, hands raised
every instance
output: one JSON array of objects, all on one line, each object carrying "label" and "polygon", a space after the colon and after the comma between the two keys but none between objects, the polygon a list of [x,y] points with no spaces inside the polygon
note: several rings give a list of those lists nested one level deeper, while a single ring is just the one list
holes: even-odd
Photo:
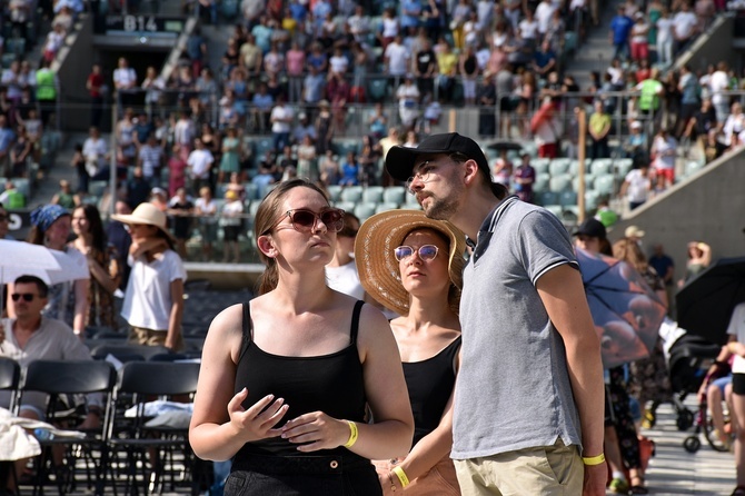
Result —
[{"label": "hatless woman in black tank top and dark sunglasses, hands raised", "polygon": [[281,182],[256,214],[260,296],[212,321],[189,431],[197,456],[232,459],[226,496],[380,495],[369,460],[410,447],[388,323],[326,286],[342,226],[342,212],[300,179]]}]

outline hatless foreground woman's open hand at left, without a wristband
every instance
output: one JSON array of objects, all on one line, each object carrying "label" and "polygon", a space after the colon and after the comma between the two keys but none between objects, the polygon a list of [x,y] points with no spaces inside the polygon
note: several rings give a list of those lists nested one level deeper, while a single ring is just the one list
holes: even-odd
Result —
[{"label": "hatless foreground woman's open hand at left, without a wristband", "polygon": [[275,400],[274,395],[265,396],[245,410],[241,403],[247,397],[248,389],[244,388],[228,403],[230,424],[238,434],[246,438],[247,443],[277,437],[282,434],[282,429],[275,428],[275,426],[289,408],[285,405],[285,399],[278,398]]}]

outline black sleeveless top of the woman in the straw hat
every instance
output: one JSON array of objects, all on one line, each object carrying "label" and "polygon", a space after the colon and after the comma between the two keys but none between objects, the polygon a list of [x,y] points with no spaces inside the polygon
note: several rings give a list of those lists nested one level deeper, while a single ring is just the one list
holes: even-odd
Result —
[{"label": "black sleeveless top of the woman in the straw hat", "polygon": [[404,376],[414,413],[414,445],[435,430],[443,418],[453,387],[453,364],[460,349],[460,336],[431,358],[405,361]]}]

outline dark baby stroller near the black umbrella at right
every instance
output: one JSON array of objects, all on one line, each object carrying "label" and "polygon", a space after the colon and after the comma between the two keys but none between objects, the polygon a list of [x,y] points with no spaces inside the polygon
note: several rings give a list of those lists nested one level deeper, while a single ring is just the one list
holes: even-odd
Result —
[{"label": "dark baby stroller near the black umbrella at right", "polygon": [[677,428],[688,430],[695,426],[694,434],[688,436],[683,444],[689,453],[695,453],[701,448],[701,433],[704,433],[712,447],[718,449],[721,446],[715,443],[706,398],[701,401],[695,413],[683,404],[688,394],[698,393],[704,380],[713,381],[716,378],[714,376],[707,378],[706,371],[715,363],[721,349],[719,345],[689,334],[681,336],[669,348],[668,368],[674,391],[673,405],[677,413]]}]

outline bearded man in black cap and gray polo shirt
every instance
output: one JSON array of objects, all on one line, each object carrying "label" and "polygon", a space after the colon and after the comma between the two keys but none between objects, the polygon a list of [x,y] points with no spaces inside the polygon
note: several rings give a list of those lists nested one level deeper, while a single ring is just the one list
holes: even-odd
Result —
[{"label": "bearded man in black cap and gray polo shirt", "polygon": [[473,248],[451,453],[463,494],[604,495],[600,347],[568,232],[491,182],[458,133],[393,147],[386,168]]}]

